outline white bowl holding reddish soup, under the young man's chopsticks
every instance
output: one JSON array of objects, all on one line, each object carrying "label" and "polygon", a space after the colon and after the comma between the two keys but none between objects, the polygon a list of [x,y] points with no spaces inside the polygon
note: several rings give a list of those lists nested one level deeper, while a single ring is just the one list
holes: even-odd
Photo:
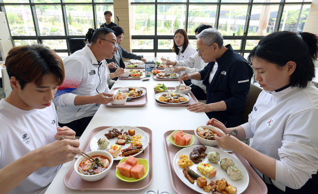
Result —
[{"label": "white bowl holding reddish soup, under the young man's chopsticks", "polygon": [[74,164],[74,170],[75,172],[83,179],[86,181],[97,181],[100,180],[102,178],[104,178],[108,172],[111,170],[112,166],[113,166],[113,162],[114,162],[114,158],[113,156],[108,153],[107,151],[103,151],[103,150],[96,150],[96,151],[90,151],[86,153],[89,156],[96,156],[96,155],[101,155],[101,156],[106,156],[109,160],[110,160],[110,164],[109,167],[102,171],[101,173],[98,174],[92,174],[92,175],[86,175],[86,174],[82,174],[78,171],[78,166],[80,165],[80,163],[85,159],[83,156],[79,157],[75,164]]}]

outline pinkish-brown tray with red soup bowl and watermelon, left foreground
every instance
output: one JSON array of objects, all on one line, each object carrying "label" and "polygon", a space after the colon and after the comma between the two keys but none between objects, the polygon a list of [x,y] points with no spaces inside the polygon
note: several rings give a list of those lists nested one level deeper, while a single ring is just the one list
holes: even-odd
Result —
[{"label": "pinkish-brown tray with red soup bowl and watermelon, left foreground", "polygon": [[[86,142],[83,144],[82,150],[84,150],[85,152],[91,151],[91,148],[89,146],[91,138],[99,131],[109,127],[111,126],[101,126],[93,129],[89,134]],[[147,127],[138,128],[142,129],[149,136],[149,145],[143,153],[140,153],[136,156],[136,158],[145,158],[148,160],[149,173],[144,179],[132,183],[119,180],[115,175],[116,165],[119,163],[119,160],[114,160],[111,171],[105,176],[105,178],[102,178],[101,180],[95,182],[85,181],[81,179],[74,171],[74,160],[64,177],[64,185],[71,190],[80,191],[139,191],[149,186],[153,180],[152,131]]]}]

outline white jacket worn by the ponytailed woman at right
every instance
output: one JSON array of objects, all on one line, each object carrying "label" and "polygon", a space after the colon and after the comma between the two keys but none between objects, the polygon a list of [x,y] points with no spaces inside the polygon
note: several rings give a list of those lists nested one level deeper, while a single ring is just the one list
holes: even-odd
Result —
[{"label": "white jacket worn by the ponytailed woman at right", "polygon": [[251,147],[276,159],[277,188],[299,189],[317,173],[318,89],[311,82],[306,88],[262,91],[241,126],[253,137]]}]

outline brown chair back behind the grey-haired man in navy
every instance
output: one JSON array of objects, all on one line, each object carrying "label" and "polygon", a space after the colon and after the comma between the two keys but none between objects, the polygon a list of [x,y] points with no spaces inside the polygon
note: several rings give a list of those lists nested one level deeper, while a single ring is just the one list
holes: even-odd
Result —
[{"label": "brown chair back behind the grey-haired man in navy", "polygon": [[[262,92],[262,89],[260,87],[256,86],[253,83],[250,83],[250,92],[244,105],[242,124],[249,121],[249,114],[253,110],[256,99],[259,93],[261,92]],[[250,145],[250,139],[240,139],[240,140],[246,143],[247,145]]]}]

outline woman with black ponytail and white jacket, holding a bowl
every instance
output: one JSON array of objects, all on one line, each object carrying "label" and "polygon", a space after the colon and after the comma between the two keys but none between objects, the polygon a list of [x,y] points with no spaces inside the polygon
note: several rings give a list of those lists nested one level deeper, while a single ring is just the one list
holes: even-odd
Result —
[{"label": "woman with black ponytail and white jacket, holding a bowl", "polygon": [[[315,77],[318,37],[308,32],[274,32],[250,52],[248,61],[263,91],[249,121],[218,127],[217,144],[242,155],[268,186],[269,194],[318,191],[318,88]],[[234,131],[236,137],[224,132]],[[237,138],[253,138],[249,145]]]}]

